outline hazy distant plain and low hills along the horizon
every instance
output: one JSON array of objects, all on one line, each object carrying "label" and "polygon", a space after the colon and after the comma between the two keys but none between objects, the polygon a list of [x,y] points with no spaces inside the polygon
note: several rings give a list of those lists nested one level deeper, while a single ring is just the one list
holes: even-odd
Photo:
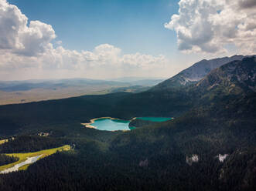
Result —
[{"label": "hazy distant plain and low hills along the horizon", "polygon": [[[118,81],[119,80],[119,81]],[[0,81],[0,105],[111,92],[143,92],[161,79],[31,79]]]}]

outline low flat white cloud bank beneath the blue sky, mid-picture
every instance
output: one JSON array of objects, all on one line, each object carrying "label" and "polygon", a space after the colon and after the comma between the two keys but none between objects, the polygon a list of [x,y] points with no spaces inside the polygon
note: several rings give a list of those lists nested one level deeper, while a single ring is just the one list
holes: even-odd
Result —
[{"label": "low flat white cloud bank beneath the blue sky, mid-picture", "polygon": [[93,51],[71,51],[62,46],[49,49],[43,56],[38,57],[42,68],[51,69],[152,69],[166,65],[163,55],[152,56],[135,53],[122,55],[121,49],[114,45],[98,45]]}]

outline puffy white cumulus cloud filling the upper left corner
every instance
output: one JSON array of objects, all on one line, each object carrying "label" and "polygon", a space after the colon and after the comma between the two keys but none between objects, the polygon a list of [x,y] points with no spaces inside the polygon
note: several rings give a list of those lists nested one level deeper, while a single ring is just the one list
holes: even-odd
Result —
[{"label": "puffy white cumulus cloud filling the upper left corner", "polygon": [[49,49],[56,38],[51,25],[32,21],[15,5],[0,0],[0,49],[22,54],[38,55]]}]

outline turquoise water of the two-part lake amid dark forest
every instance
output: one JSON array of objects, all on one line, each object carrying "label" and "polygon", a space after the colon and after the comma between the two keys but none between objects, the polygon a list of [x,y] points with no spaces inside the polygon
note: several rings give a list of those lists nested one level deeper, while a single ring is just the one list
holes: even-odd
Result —
[{"label": "turquoise water of the two-part lake amid dark forest", "polygon": [[[138,117],[137,119],[148,120],[152,122],[165,122],[172,118],[166,117]],[[117,130],[131,130],[135,129],[134,127],[129,128],[130,121],[125,121],[121,119],[97,119],[92,126],[96,127],[98,130],[105,131],[117,131]]]}]

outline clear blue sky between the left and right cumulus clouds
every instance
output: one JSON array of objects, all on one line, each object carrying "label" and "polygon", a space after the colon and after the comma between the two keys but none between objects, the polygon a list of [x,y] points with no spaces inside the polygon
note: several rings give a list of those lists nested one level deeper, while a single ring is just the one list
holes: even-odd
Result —
[{"label": "clear blue sky between the left and right cumulus clouds", "polygon": [[29,20],[53,26],[66,49],[91,50],[108,43],[126,53],[177,53],[175,32],[164,28],[178,12],[170,0],[9,0]]}]

